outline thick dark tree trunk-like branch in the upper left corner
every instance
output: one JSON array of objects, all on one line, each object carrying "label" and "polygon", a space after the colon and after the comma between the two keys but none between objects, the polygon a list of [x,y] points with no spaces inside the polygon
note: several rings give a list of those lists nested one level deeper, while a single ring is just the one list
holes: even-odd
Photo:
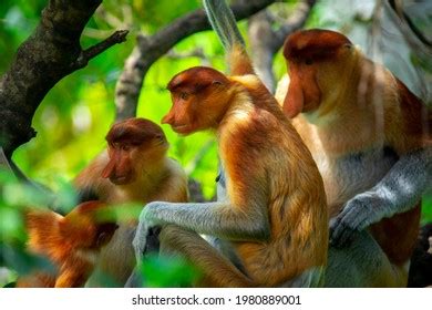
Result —
[{"label": "thick dark tree trunk-like branch in the upper left corner", "polygon": [[[0,80],[0,145],[8,158],[18,146],[35,136],[31,121],[47,93],[81,68],[78,64],[85,65],[79,61],[83,56],[80,37],[101,2],[50,0],[37,29],[18,49]],[[96,55],[96,50],[90,51],[86,51],[89,59]]]}]

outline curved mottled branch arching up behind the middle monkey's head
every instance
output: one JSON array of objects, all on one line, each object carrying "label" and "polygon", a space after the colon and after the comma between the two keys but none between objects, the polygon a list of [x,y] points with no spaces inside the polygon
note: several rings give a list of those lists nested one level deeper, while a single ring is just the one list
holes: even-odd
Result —
[{"label": "curved mottled branch arching up behind the middle monkey's head", "polygon": [[[248,18],[275,0],[250,0],[232,6],[237,20]],[[176,19],[152,37],[138,35],[137,44],[125,62],[115,91],[116,118],[135,116],[136,106],[145,75],[152,64],[181,40],[199,31],[210,30],[203,10]]]}]

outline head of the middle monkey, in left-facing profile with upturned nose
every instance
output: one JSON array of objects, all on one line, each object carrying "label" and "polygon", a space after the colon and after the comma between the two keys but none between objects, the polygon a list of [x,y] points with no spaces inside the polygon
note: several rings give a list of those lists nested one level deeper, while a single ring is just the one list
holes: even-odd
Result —
[{"label": "head of the middle monkey, in left-facing profile with upturned nose", "polygon": [[162,123],[184,135],[217,127],[232,96],[230,85],[212,68],[195,66],[178,73],[167,85],[173,106]]}]

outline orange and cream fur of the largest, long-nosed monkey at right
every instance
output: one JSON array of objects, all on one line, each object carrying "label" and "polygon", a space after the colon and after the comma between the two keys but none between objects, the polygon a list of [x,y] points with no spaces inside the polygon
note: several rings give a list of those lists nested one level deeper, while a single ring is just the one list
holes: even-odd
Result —
[{"label": "orange and cream fur of the largest, long-nosed monkey at right", "polygon": [[[278,100],[320,167],[331,216],[378,180],[356,176],[359,188],[341,185],[337,166],[348,155],[389,147],[400,156],[431,145],[431,111],[343,34],[298,31],[287,39],[284,55],[290,84],[278,91]],[[411,256],[419,220],[415,207],[371,227],[392,262],[402,265]]]}]

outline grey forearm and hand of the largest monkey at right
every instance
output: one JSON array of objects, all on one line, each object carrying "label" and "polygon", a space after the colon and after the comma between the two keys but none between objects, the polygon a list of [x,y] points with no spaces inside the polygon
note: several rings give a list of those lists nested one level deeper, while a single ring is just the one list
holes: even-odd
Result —
[{"label": "grey forearm and hand of the largest monkey at right", "polygon": [[331,245],[343,247],[356,231],[409,210],[431,185],[432,147],[402,156],[373,188],[350,199],[330,221]]}]

